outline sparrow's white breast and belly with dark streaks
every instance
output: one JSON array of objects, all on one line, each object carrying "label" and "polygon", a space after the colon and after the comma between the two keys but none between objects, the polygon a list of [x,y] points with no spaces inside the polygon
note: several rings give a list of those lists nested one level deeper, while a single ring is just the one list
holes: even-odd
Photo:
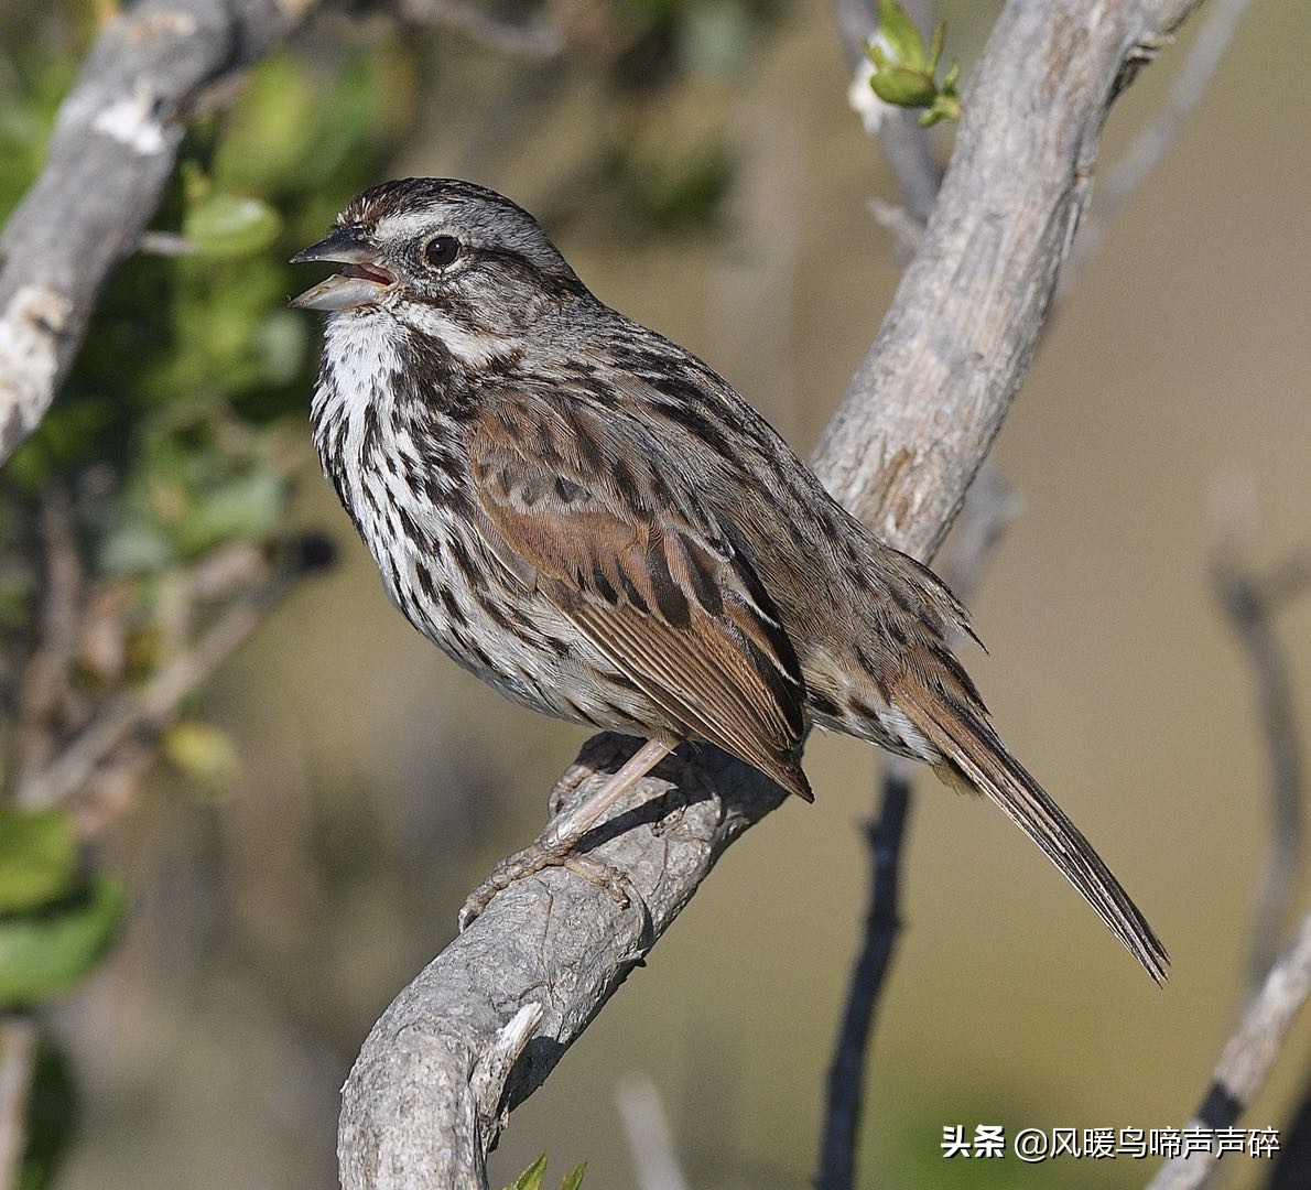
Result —
[{"label": "sparrow's white breast and belly with dark streaks", "polygon": [[[577,630],[558,609],[538,599],[526,623],[507,633],[488,616],[485,600],[477,598],[460,567],[440,556],[454,535],[465,543],[472,541],[472,535],[440,503],[439,482],[425,482],[442,477],[427,473],[431,468],[420,461],[423,452],[408,429],[409,419],[396,417],[395,376],[401,366],[397,345],[405,333],[384,312],[330,318],[324,336],[326,375],[312,406],[324,473],[337,486],[374,556],[389,599],[443,653],[514,701],[577,722],[614,720],[612,713],[590,705],[591,681],[581,672],[587,666],[608,668],[607,662],[586,645],[578,647]],[[382,440],[366,450],[371,422]],[[435,501],[433,491],[438,493]],[[425,540],[416,541],[404,531],[406,518]],[[490,557],[486,565],[494,581],[506,579]],[[426,595],[421,567],[431,577],[429,586],[437,598]],[[561,640],[574,645],[568,657],[552,646]],[[565,691],[572,702],[562,697]],[[606,725],[616,730],[632,727]]]}]

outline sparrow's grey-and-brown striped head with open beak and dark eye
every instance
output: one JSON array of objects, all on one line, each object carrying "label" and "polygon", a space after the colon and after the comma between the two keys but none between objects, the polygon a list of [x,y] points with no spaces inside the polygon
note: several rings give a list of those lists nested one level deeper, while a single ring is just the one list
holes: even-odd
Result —
[{"label": "sparrow's grey-and-brown striped head with open beak and dark eye", "polygon": [[538,221],[494,190],[452,178],[374,186],[294,265],[342,269],[291,300],[332,315],[389,315],[448,337],[520,332],[543,308],[586,294]]}]

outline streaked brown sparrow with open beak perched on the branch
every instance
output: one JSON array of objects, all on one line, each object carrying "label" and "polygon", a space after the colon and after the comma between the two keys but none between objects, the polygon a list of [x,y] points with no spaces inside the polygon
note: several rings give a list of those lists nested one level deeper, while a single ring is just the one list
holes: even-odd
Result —
[{"label": "streaked brown sparrow with open beak perched on the branch", "polygon": [[493,890],[561,862],[683,740],[810,801],[813,723],[986,794],[1164,978],[1151,927],[990,725],[947,643],[970,633],[950,591],[700,359],[598,301],[531,215],[408,178],[292,259],[345,265],[292,304],[332,315],[315,442],[392,602],[510,699],[649,740]]}]

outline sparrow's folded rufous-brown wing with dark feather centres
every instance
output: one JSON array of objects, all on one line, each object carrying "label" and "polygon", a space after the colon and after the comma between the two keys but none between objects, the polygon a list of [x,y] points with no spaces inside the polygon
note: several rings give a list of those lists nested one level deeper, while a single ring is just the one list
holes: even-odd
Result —
[{"label": "sparrow's folded rufous-brown wing with dark feather centres", "polygon": [[[667,716],[808,801],[805,681],[763,585],[631,421],[541,397],[485,408],[464,440],[493,553]],[[604,410],[602,410],[604,414]],[[657,726],[657,725],[653,725]]]}]

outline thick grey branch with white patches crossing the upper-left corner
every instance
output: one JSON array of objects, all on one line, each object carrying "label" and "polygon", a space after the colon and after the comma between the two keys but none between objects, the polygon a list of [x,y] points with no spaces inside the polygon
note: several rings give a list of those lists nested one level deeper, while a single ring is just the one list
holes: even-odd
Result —
[{"label": "thick grey branch with white patches crossing the upper-left corner", "polygon": [[110,271],[155,215],[184,123],[316,0],[140,0],[104,26],[0,235],[0,463],[37,427]]}]

